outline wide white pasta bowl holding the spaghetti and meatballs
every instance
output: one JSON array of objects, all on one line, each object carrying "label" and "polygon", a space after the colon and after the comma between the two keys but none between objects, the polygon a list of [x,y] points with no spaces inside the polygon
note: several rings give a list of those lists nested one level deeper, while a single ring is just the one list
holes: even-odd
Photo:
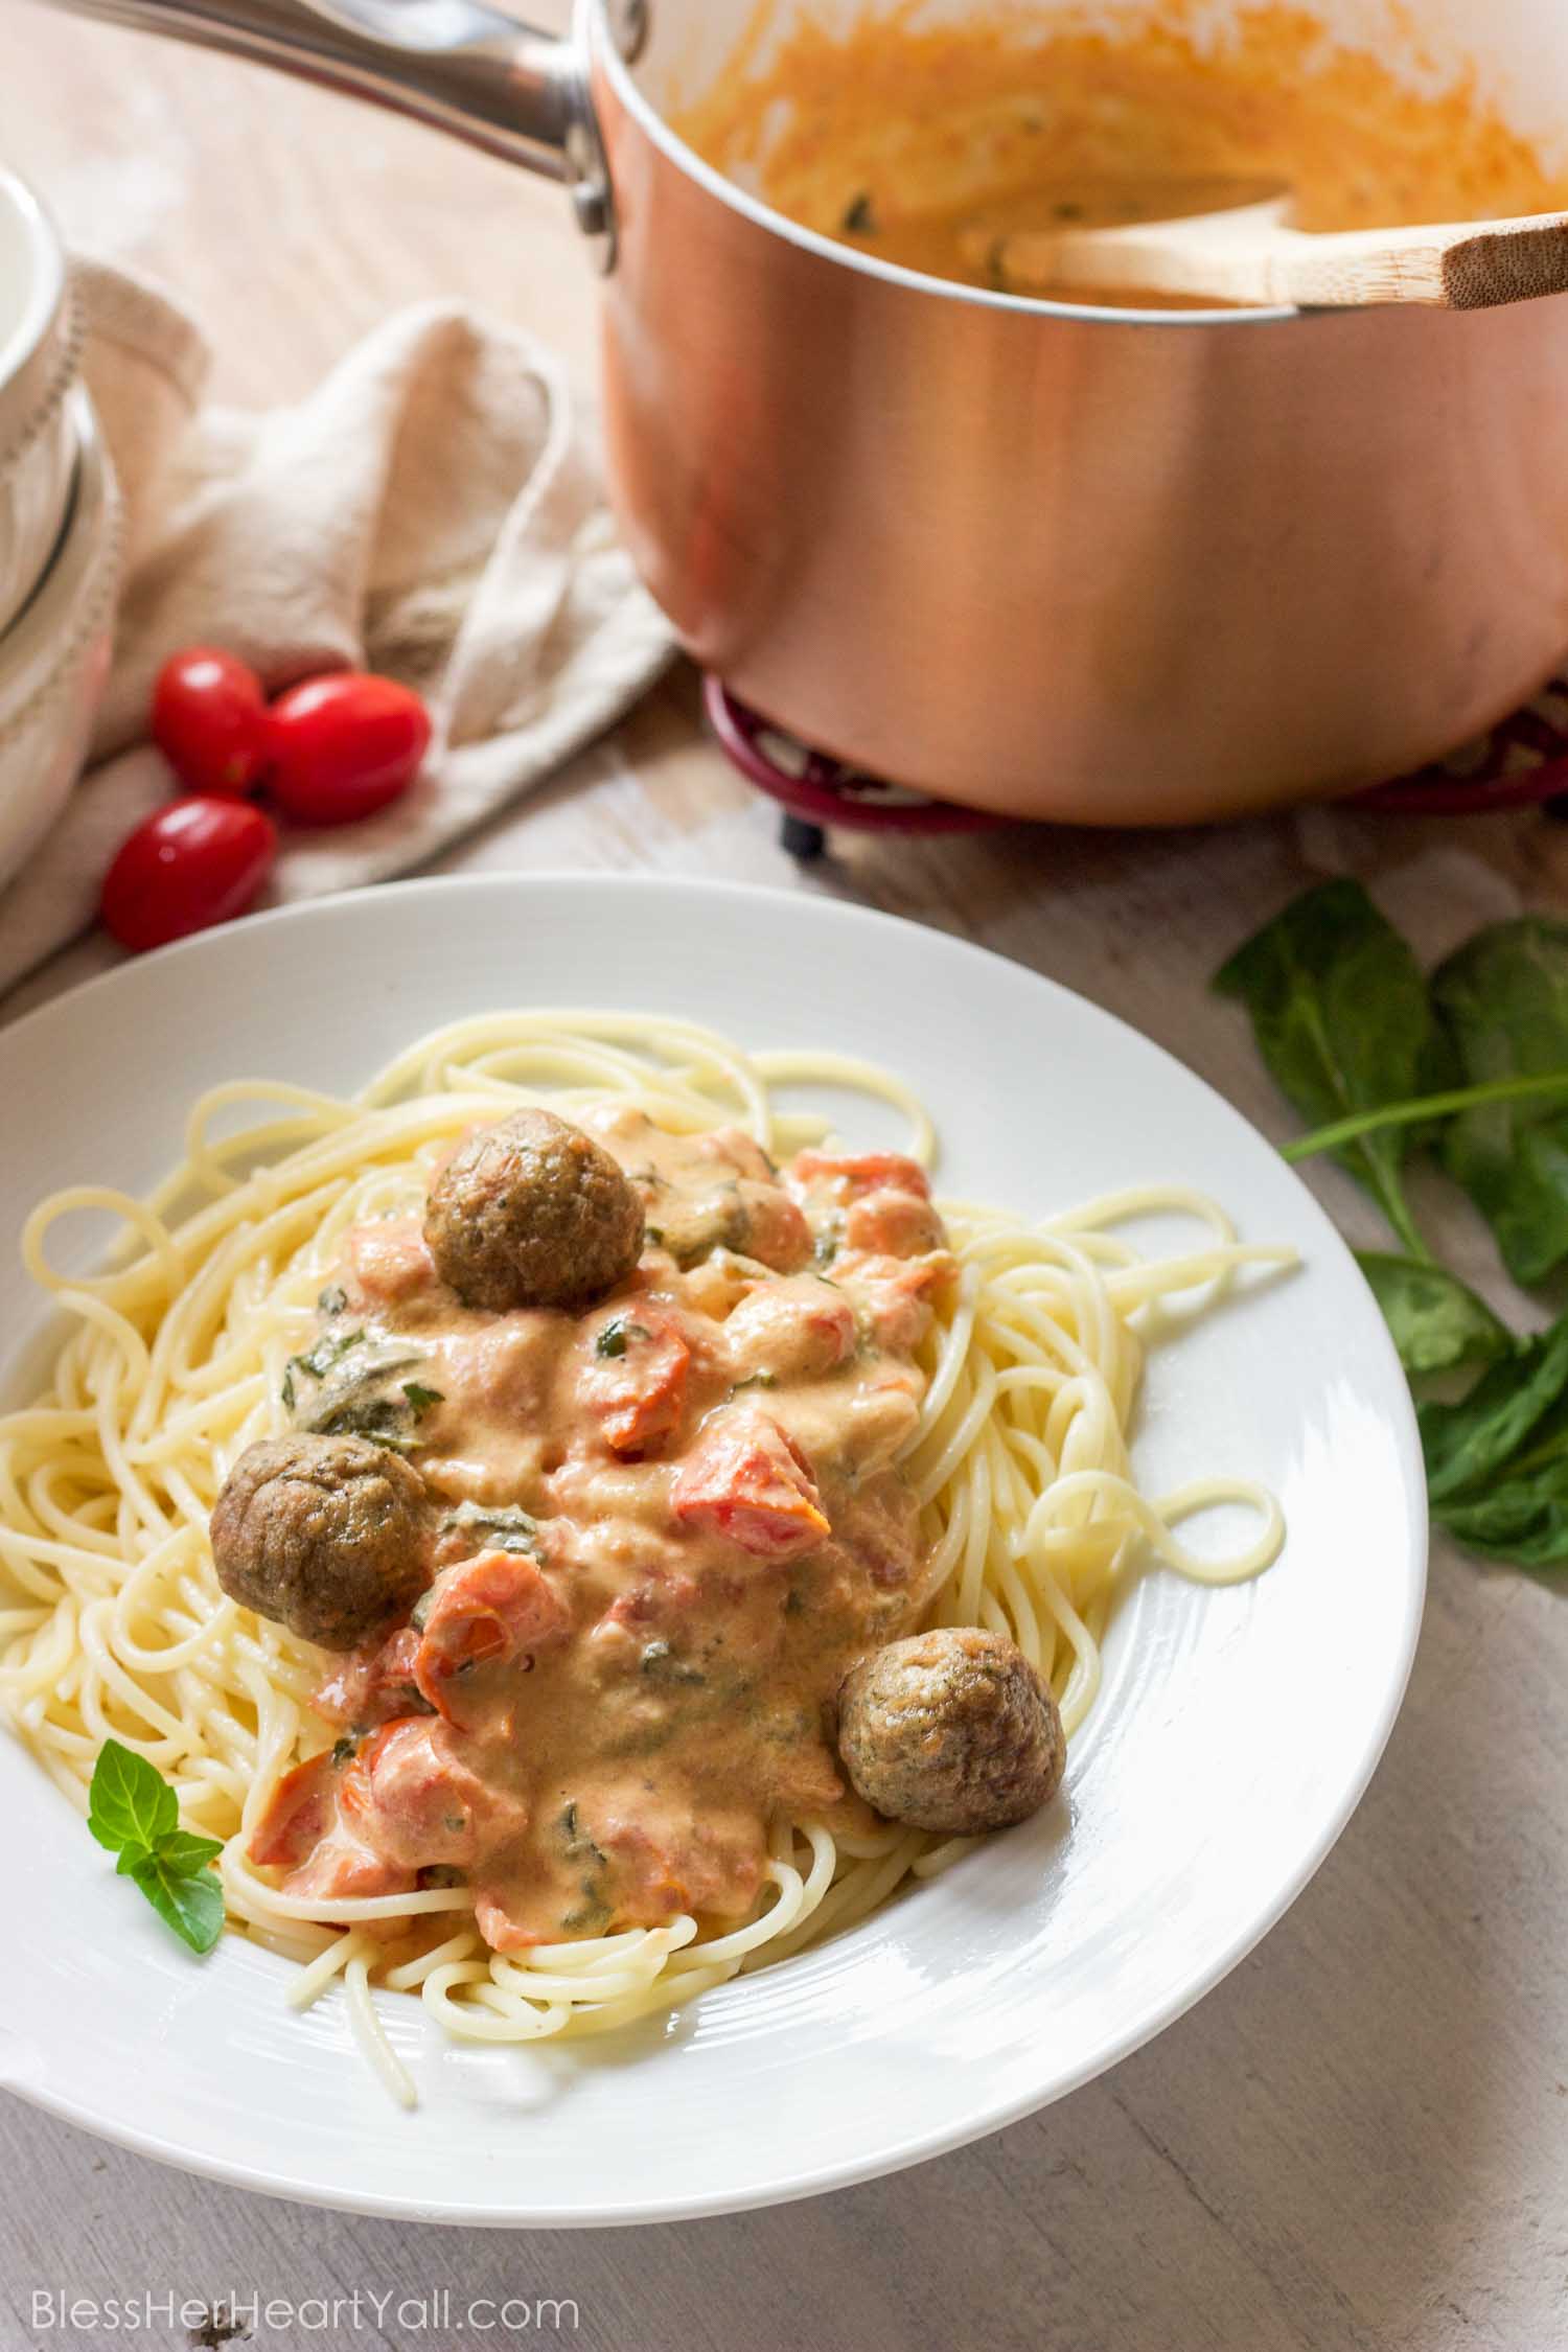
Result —
[{"label": "wide white pasta bowl holding the spaghetti and meatballs", "polygon": [[[1152,1491],[1201,1472],[1262,1479],[1284,1503],[1284,1552],[1227,1590],[1138,1581],[1063,1797],[802,1957],[581,2046],[454,2046],[411,1997],[378,1994],[414,2114],[360,2060],[341,1990],[299,2016],[289,1969],[256,1945],[226,1938],[193,1959],[28,1750],[0,1738],[0,2082],[221,2180],[418,2220],[663,2220],[933,2157],[1178,2018],[1345,1828],[1394,1722],[1425,1588],[1425,1484],[1394,1350],[1309,1192],[1147,1040],[954,938],[726,884],[397,884],[94,981],[0,1035],[0,1101],[49,1103],[7,1136],[5,1230],[61,1183],[146,1190],[212,1084],[350,1091],[433,1025],[505,1004],[670,1011],[748,1047],[863,1054],[933,1110],[938,1188],[1044,1216],[1180,1181],[1215,1192],[1244,1240],[1293,1244],[1298,1272],[1180,1319],[1150,1359],[1135,1439]],[[851,1141],[893,1129],[865,1117]],[[56,1263],[94,1261],[92,1223],[52,1235]],[[2,1265],[7,1406],[38,1381],[42,1324]],[[1194,1545],[1229,1534],[1190,1524]]]}]

